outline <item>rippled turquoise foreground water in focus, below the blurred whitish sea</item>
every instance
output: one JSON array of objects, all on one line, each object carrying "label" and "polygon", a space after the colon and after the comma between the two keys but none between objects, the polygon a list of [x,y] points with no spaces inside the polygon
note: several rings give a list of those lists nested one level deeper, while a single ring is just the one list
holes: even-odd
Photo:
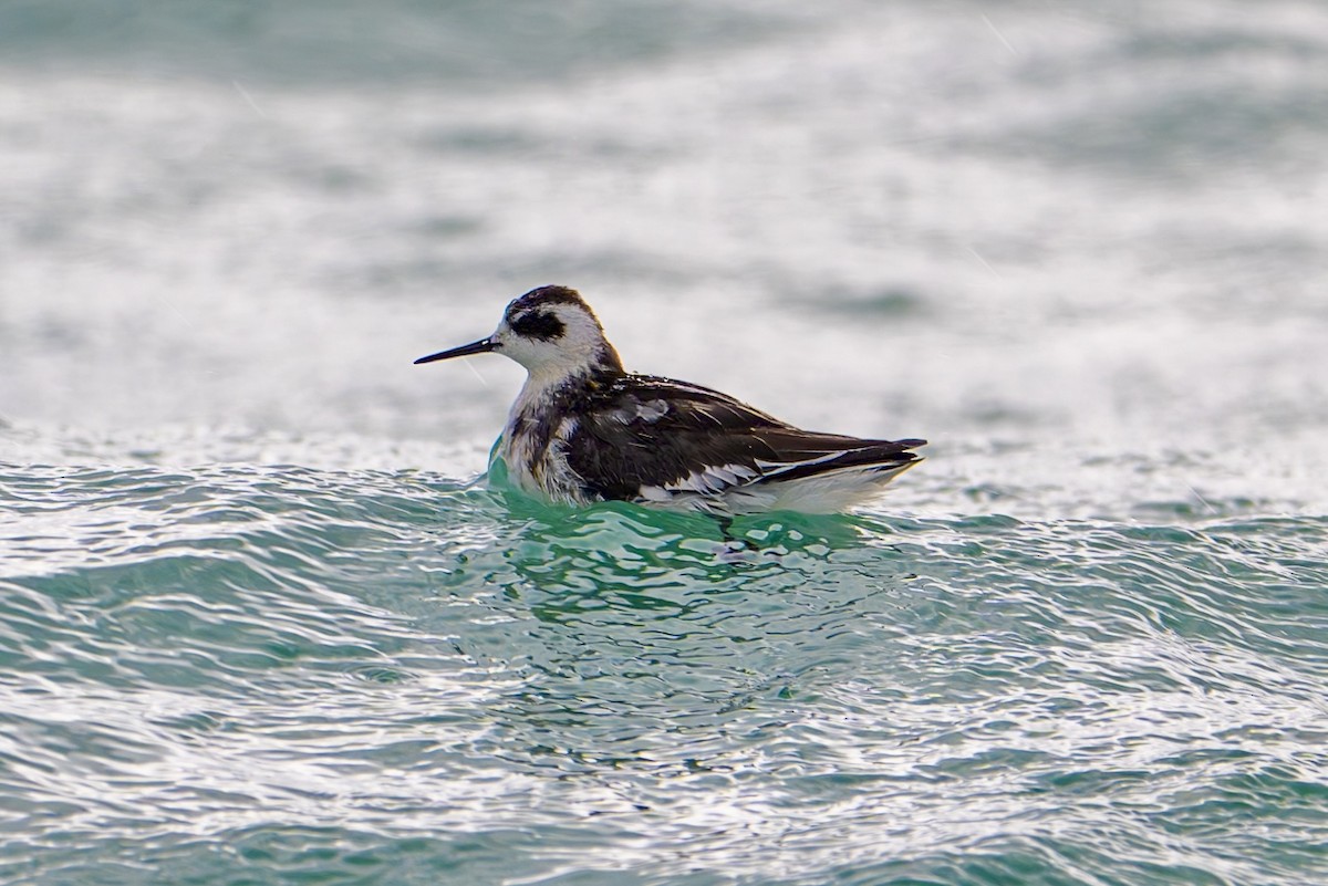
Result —
[{"label": "rippled turquoise foreground water in focus, below the blurred whitish sea", "polygon": [[7,882],[1328,874],[1328,520],[3,475]]}]

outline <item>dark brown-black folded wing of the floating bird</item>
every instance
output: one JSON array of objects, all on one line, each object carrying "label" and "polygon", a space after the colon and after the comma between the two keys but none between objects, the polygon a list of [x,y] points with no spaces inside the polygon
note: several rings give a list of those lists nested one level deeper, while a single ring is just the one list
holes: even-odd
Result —
[{"label": "dark brown-black folded wing of the floating bird", "polygon": [[898,470],[926,440],[802,431],[699,385],[624,375],[596,390],[567,439],[568,466],[604,499],[717,495],[850,467]]}]

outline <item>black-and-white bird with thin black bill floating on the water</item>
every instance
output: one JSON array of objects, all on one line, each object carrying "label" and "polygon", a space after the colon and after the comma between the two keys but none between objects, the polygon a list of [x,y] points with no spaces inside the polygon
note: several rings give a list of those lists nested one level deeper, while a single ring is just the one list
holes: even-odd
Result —
[{"label": "black-and-white bird with thin black bill floating on the water", "polygon": [[567,286],[531,289],[487,338],[414,362],[489,351],[527,371],[498,455],[519,488],[555,503],[827,513],[922,462],[910,450],[926,440],[803,431],[709,387],[628,373]]}]

